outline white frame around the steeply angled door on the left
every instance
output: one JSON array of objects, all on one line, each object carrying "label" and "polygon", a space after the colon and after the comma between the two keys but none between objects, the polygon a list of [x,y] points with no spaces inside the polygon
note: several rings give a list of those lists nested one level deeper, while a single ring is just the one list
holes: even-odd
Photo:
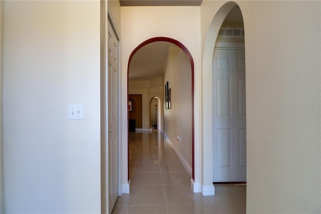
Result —
[{"label": "white frame around the steeply angled door on the left", "polygon": [[101,211],[102,213],[107,213],[109,209],[109,189],[108,189],[108,22],[111,25],[112,29],[109,29],[115,33],[116,39],[118,40],[118,160],[117,160],[117,173],[118,173],[118,196],[122,194],[122,135],[121,135],[121,38],[120,33],[115,25],[115,21],[110,13],[107,11],[107,3],[101,2],[101,15],[100,15],[100,30],[102,32],[101,35],[101,46],[100,46],[100,87],[101,87],[101,95],[100,95],[100,132],[101,132],[101,146],[100,146],[100,153],[101,153],[101,175],[100,175],[100,182],[101,182]]}]

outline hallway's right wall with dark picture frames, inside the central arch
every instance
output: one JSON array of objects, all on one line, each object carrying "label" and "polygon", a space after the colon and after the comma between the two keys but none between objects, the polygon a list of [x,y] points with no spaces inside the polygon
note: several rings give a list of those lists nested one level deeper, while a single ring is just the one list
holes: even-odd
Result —
[{"label": "hallway's right wall with dark picture frames, inside the central arch", "polygon": [[186,53],[176,46],[169,48],[166,82],[171,88],[171,109],[164,103],[164,133],[192,177],[192,68]]}]

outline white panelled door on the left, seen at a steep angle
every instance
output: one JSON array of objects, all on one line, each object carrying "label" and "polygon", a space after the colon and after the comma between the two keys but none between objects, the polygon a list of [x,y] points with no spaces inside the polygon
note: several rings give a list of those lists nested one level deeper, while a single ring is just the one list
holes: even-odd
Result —
[{"label": "white panelled door on the left, seen at a steep angle", "polygon": [[108,21],[108,209],[118,197],[118,40]]}]

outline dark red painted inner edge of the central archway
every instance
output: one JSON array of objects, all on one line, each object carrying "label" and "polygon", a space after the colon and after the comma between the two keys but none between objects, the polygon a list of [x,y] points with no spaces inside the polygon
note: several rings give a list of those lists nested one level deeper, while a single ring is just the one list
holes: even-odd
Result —
[{"label": "dark red painted inner edge of the central archway", "polygon": [[[130,63],[135,55],[135,53],[142,47],[144,47],[147,44],[153,43],[153,42],[169,42],[172,43],[176,46],[178,46],[188,57],[189,62],[190,62],[190,68],[191,68],[191,121],[192,121],[192,145],[191,145],[191,150],[192,150],[192,167],[191,167],[191,174],[192,178],[194,179],[194,61],[192,58],[191,53],[189,50],[179,41],[168,38],[168,37],[154,37],[151,39],[148,39],[144,42],[142,42],[140,45],[138,45],[130,54],[129,60],[128,60],[128,66],[127,66],[127,83],[128,83],[128,76],[129,76],[129,68],[130,68]],[[127,95],[128,95],[128,85],[127,85]],[[162,102],[164,103],[164,101]],[[129,175],[129,173],[128,173]],[[129,176],[128,176],[129,179]]]}]

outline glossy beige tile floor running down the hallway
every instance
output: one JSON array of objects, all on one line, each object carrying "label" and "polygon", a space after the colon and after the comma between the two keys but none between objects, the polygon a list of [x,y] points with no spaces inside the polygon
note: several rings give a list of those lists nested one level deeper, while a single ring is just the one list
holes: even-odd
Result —
[{"label": "glossy beige tile floor running down the hallway", "polygon": [[246,186],[215,185],[213,196],[193,193],[191,177],[159,131],[129,133],[130,194],[118,197],[117,213],[245,213]]}]

